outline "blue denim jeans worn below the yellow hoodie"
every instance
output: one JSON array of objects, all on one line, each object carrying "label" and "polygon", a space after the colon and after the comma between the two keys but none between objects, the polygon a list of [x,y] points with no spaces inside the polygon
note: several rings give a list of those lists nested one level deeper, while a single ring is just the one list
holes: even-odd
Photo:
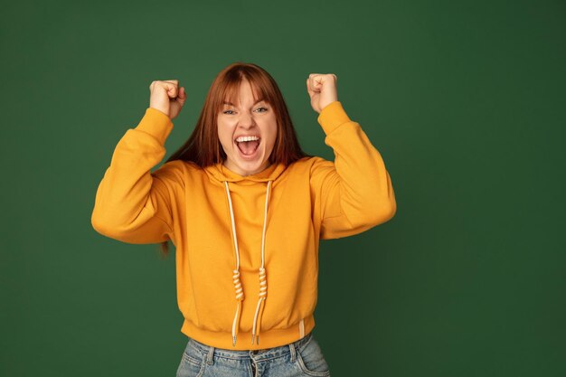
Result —
[{"label": "blue denim jeans worn below the yellow hoodie", "polygon": [[322,350],[310,332],[297,342],[263,350],[231,351],[189,337],[177,377],[329,377]]}]

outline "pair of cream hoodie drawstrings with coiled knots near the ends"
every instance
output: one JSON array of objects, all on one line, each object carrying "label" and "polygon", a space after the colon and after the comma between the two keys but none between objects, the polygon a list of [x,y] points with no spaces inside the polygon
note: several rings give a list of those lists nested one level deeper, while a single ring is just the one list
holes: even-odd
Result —
[{"label": "pair of cream hoodie drawstrings with coiled knots near the ends", "polygon": [[[265,306],[265,300],[268,296],[268,282],[266,278],[265,269],[265,232],[268,224],[268,206],[269,206],[269,189],[271,188],[271,182],[268,182],[267,193],[265,195],[265,213],[263,219],[263,234],[261,236],[261,267],[259,268],[259,298],[258,306],[256,307],[256,314],[253,317],[253,327],[251,330],[251,344],[253,344],[254,339],[257,335],[257,344],[259,345],[259,330],[261,328],[261,316],[263,316],[263,308]],[[231,327],[232,335],[232,345],[236,345],[236,337],[238,331],[240,330],[240,318],[241,318],[241,302],[244,299],[243,288],[240,281],[240,250],[238,250],[238,238],[236,237],[236,224],[234,222],[234,210],[231,203],[230,189],[228,187],[228,182],[224,181],[224,186],[226,187],[226,194],[228,195],[228,203],[230,205],[230,219],[231,219],[231,229],[232,236],[234,240],[234,248],[236,250],[236,269],[234,269],[232,275],[232,281],[234,287],[236,288],[236,314],[234,315],[234,321]]]}]

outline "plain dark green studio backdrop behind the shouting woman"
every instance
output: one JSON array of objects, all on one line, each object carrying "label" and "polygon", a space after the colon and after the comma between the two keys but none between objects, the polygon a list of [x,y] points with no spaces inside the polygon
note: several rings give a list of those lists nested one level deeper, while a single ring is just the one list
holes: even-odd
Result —
[{"label": "plain dark green studio backdrop behind the shouting woman", "polygon": [[151,81],[188,91],[165,161],[233,61],[273,75],[327,159],[305,80],[335,73],[391,174],[391,221],[321,243],[333,376],[566,375],[563,2],[2,8],[2,376],[175,375],[175,249],[108,239],[90,214]]}]

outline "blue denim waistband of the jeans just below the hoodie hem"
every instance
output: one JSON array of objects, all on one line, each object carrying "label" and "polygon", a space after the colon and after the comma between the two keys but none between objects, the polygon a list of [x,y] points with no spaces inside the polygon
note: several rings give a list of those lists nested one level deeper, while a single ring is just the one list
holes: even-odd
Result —
[{"label": "blue denim waistband of the jeans just below the hoodie hem", "polygon": [[[296,342],[293,342],[292,344],[294,349],[301,348],[303,345],[307,344],[312,336],[313,336],[313,332],[311,331],[307,335],[303,336],[301,339],[297,340]],[[248,359],[251,357],[256,361],[260,361],[264,359],[272,359],[275,357],[283,356],[287,353],[295,352],[295,350],[291,351],[290,344],[280,345],[278,347],[265,348],[260,350],[232,351],[224,348],[216,348],[216,347],[212,347],[211,345],[202,344],[200,342],[197,342],[191,337],[189,337],[189,345],[192,346],[198,352],[208,353],[210,357],[212,357],[212,355],[217,355],[227,359]]]}]

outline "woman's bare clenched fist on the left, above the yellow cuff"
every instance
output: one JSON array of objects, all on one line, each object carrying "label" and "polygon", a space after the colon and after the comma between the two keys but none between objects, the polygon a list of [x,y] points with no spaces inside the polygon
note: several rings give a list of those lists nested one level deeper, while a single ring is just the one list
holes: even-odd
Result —
[{"label": "woman's bare clenched fist on the left, above the yellow cuff", "polygon": [[179,80],[153,81],[149,90],[149,107],[156,108],[171,119],[177,118],[186,99],[184,87],[179,90]]}]

